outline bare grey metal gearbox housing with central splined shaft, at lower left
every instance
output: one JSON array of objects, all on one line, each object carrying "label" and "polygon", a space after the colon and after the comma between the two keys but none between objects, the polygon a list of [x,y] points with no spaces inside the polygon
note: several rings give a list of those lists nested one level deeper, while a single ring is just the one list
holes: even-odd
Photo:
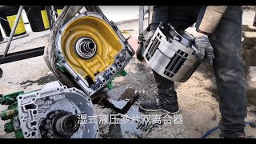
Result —
[{"label": "bare grey metal gearbox housing with central splined shaft, at lower left", "polygon": [[93,116],[94,107],[76,88],[57,86],[18,96],[17,127],[24,138],[97,138],[98,123],[79,124],[80,114]]}]

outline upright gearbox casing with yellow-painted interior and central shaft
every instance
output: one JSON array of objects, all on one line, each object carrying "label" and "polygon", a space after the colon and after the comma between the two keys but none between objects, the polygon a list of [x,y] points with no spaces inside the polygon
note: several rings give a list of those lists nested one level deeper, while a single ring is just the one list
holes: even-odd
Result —
[{"label": "upright gearbox casing with yellow-painted interior and central shaft", "polygon": [[[55,49],[55,62],[62,75],[87,95],[106,86],[134,55],[114,22],[93,12],[66,22],[58,30]],[[69,82],[64,84],[69,86]]]}]

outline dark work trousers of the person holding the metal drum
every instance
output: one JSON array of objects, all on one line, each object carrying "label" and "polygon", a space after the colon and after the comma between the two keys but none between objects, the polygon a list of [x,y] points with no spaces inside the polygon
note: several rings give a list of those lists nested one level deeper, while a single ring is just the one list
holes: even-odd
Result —
[{"label": "dark work trousers of the person holding the metal drum", "polygon": [[[202,17],[201,8],[202,6],[154,6],[150,30],[156,29],[160,22],[169,22],[174,28],[185,30],[197,18]],[[246,126],[246,84],[240,56],[241,38],[242,6],[228,6],[217,29],[209,36],[214,48],[214,75],[220,99],[222,119],[219,128],[222,134],[240,133]],[[165,103],[176,102],[174,82],[155,72],[154,78],[158,86],[158,98]]]}]

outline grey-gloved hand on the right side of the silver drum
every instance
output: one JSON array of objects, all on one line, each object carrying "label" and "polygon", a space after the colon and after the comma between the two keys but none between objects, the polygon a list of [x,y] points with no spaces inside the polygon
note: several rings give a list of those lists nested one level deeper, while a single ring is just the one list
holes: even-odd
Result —
[{"label": "grey-gloved hand on the right side of the silver drum", "polygon": [[195,37],[195,46],[198,49],[198,58],[204,62],[213,63],[214,49],[210,45],[207,35],[200,35]]}]

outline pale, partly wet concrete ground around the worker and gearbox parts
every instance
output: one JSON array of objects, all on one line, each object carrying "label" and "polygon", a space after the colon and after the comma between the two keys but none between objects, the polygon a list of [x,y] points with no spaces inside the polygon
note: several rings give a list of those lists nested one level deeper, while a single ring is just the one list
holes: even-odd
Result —
[{"label": "pale, partly wet concrete ground around the worker and gearbox parts", "polygon": [[[246,10],[243,14],[242,58],[245,63],[244,70],[246,74],[249,109],[246,121],[256,118],[256,27],[252,26],[254,14],[255,12],[253,10]],[[130,36],[130,45],[136,49],[138,21],[118,23],[119,30],[132,30],[130,34],[124,35],[126,37]],[[193,34],[194,27],[190,27],[187,31]],[[17,39],[12,42],[10,52],[44,46],[49,33],[49,30],[40,33],[28,31],[28,34],[30,34],[29,37]],[[6,43],[0,45],[0,54],[3,53],[5,46]],[[10,62],[0,65],[0,67],[4,72],[2,78],[0,78],[0,94],[9,94],[18,90],[38,90],[46,83],[56,80],[54,75],[49,73],[49,69],[42,56],[18,62]],[[145,62],[139,62],[136,58],[133,58],[125,70],[127,75],[125,77],[115,78],[114,86],[126,86],[138,89],[138,101],[156,96],[154,77]],[[206,131],[218,126],[220,118],[218,92],[215,86],[212,66],[202,63],[187,82],[175,83],[175,87],[178,92],[178,102],[181,109],[180,114],[182,114],[183,118],[182,124],[158,126],[146,138],[201,138],[202,134],[205,134]],[[135,108],[137,104],[138,102],[135,102]],[[4,110],[5,108],[6,106],[0,106],[0,110]],[[134,114],[136,114],[137,110],[134,111]],[[5,134],[3,131],[4,123],[0,120],[0,138],[14,138],[14,134]],[[256,129],[246,126],[246,134],[256,137]],[[106,138],[113,137],[109,136]],[[138,137],[130,134],[126,138]],[[210,134],[208,138],[218,138],[218,130]]]}]

